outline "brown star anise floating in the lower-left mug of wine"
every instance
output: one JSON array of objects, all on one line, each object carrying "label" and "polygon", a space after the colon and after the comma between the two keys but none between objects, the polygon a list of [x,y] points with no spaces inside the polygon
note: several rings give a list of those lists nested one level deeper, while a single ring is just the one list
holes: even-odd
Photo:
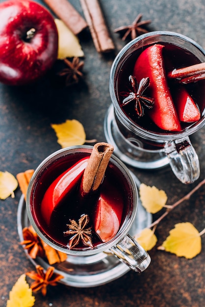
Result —
[{"label": "brown star anise floating in the lower-left mug of wine", "polygon": [[69,230],[64,231],[64,235],[74,234],[68,242],[70,249],[74,248],[80,242],[85,246],[93,247],[91,241],[91,228],[86,226],[89,223],[89,217],[87,214],[81,216],[78,223],[75,220],[70,220],[70,224],[67,224]]}]

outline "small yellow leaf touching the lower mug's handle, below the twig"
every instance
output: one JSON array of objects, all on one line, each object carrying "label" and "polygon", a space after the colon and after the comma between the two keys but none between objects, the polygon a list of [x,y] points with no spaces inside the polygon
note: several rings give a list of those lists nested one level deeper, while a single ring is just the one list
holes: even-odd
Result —
[{"label": "small yellow leaf touching the lower mug's handle, below the twig", "polygon": [[135,240],[146,250],[151,250],[157,243],[157,237],[149,228],[145,228],[135,236]]}]

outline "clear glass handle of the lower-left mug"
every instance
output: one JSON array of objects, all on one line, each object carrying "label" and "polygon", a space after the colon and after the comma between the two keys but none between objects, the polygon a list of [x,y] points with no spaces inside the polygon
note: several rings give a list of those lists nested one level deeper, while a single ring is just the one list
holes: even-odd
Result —
[{"label": "clear glass handle of the lower-left mug", "polygon": [[141,273],[148,267],[151,258],[144,248],[129,234],[110,248],[110,251],[135,272]]}]

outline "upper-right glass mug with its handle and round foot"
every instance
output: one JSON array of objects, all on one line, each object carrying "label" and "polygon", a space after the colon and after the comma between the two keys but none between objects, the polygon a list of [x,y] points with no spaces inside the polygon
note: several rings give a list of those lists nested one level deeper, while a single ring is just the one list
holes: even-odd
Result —
[{"label": "upper-right glass mug with its handle and round foot", "polygon": [[[119,102],[120,74],[132,75],[139,54],[149,45],[173,44],[186,53],[193,54],[198,62],[205,62],[205,50],[196,42],[181,34],[154,31],[143,34],[129,42],[115,58],[110,74],[110,96],[112,105],[104,121],[106,139],[115,148],[115,154],[126,164],[142,169],[157,169],[170,164],[176,177],[183,183],[192,183],[200,176],[199,159],[191,145],[189,135],[205,124],[204,105],[201,119],[181,131],[152,131],[132,121],[123,112]],[[136,53],[138,52],[138,53]],[[138,54],[136,56],[136,54]],[[127,64],[128,63],[128,64]],[[146,63],[145,63],[146,65]],[[192,65],[192,64],[190,64]],[[188,65],[187,65],[188,66]],[[179,67],[180,68],[180,67]],[[205,97],[205,81],[195,84],[200,95]],[[198,83],[198,82],[196,82]],[[123,84],[122,84],[123,86]],[[203,104],[204,102],[202,102]]]}]

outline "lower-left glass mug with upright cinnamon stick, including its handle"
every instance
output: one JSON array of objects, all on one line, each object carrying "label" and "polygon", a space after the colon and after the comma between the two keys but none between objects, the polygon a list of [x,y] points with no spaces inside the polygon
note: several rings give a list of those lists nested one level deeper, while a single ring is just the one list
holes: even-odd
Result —
[{"label": "lower-left glass mug with upright cinnamon stick, including its handle", "polygon": [[[79,262],[88,263],[88,257],[92,259],[92,255],[100,254],[101,252],[112,252],[122,262],[127,264],[132,270],[136,272],[144,271],[149,263],[150,257],[146,251],[128,234],[137,212],[138,192],[136,184],[128,170],[128,168],[114,155],[111,156],[108,167],[105,173],[103,182],[114,182],[115,186],[120,189],[123,195],[124,207],[121,219],[120,228],[110,241],[108,242],[93,242],[93,248],[79,247],[70,249],[67,247],[67,237],[62,236],[61,228],[63,219],[57,220],[55,226],[52,218],[50,225],[45,223],[45,220],[40,211],[41,202],[45,191],[50,184],[64,171],[78,162],[80,159],[90,155],[92,151],[91,146],[73,146],[61,149],[50,156],[48,156],[35,170],[28,187],[27,193],[27,212],[31,225],[36,233],[50,246],[68,254],[69,256],[79,257]],[[107,179],[106,179],[107,178]],[[110,181],[109,181],[110,180]],[[102,183],[103,184],[103,183]],[[74,194],[76,195],[76,191]],[[113,193],[113,190],[112,190]],[[121,192],[120,192],[121,193]],[[69,198],[68,198],[69,200]],[[68,200],[66,200],[68,202]],[[69,204],[69,203],[66,203]],[[72,202],[70,201],[70,204]],[[60,206],[63,208],[63,204]],[[66,206],[68,208],[68,205]],[[73,209],[74,208],[74,209]],[[65,212],[63,211],[63,216]],[[75,210],[75,205],[70,210]],[[91,214],[91,212],[89,212]],[[57,214],[58,216],[58,214]],[[89,215],[90,216],[90,215]],[[79,216],[80,217],[80,216]],[[65,226],[69,223],[69,218],[66,217]],[[59,225],[60,224],[60,225]],[[64,228],[64,226],[63,226]],[[65,230],[65,228],[64,228]],[[99,240],[99,238],[98,238]],[[77,261],[77,260],[75,260]],[[90,260],[92,261],[92,260]]]}]

